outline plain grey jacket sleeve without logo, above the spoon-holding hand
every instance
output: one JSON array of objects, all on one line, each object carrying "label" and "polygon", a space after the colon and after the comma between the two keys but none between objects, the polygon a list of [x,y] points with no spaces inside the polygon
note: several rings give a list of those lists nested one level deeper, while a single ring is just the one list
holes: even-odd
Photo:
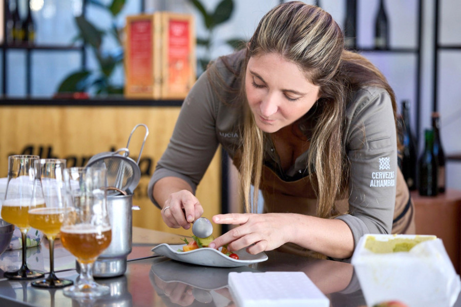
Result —
[{"label": "plain grey jacket sleeve without logo, above the spoon-holding hand", "polygon": [[163,177],[182,178],[195,193],[218,147],[215,101],[213,89],[203,73],[184,99],[170,143],[149,181],[148,195],[157,207],[152,191]]}]

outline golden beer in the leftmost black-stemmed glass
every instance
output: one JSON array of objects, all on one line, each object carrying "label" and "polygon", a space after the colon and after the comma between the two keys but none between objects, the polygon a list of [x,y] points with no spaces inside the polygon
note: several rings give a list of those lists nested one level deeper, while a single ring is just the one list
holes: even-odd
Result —
[{"label": "golden beer in the leftmost black-stemmed glass", "polygon": [[[45,201],[36,204],[35,208],[44,208]],[[28,229],[29,225],[30,198],[7,199],[2,204],[2,218],[16,225],[19,229]]]}]

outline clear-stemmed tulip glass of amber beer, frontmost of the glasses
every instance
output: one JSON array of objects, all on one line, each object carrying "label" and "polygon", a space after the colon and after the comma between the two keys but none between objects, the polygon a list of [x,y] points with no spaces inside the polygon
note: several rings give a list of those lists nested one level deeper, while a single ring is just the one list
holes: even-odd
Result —
[{"label": "clear-stemmed tulip glass of amber beer, frontmost of the glasses", "polygon": [[94,298],[110,293],[108,286],[93,279],[96,258],[109,247],[112,230],[106,207],[106,169],[69,168],[66,184],[73,200],[73,210],[66,213],[61,226],[62,245],[80,265],[77,283],[64,290],[73,298]]}]

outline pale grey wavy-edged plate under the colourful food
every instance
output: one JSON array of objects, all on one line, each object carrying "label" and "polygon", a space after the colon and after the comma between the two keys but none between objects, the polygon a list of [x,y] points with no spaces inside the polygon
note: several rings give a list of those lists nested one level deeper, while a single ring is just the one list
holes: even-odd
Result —
[{"label": "pale grey wavy-edged plate under the colourful food", "polygon": [[210,248],[201,248],[188,252],[178,252],[179,249],[182,250],[184,245],[185,244],[170,245],[163,243],[157,245],[152,249],[152,251],[173,260],[198,265],[206,265],[207,267],[236,268],[243,267],[243,265],[267,260],[267,255],[263,252],[252,255],[248,254],[245,249],[234,252],[239,256],[238,260],[226,256],[218,250]]}]

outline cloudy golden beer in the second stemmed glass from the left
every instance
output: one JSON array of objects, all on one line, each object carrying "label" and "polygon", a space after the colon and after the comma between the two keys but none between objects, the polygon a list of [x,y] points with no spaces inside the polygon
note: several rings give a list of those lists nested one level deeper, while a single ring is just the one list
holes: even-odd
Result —
[{"label": "cloudy golden beer in the second stemmed glass from the left", "polygon": [[65,213],[65,208],[34,208],[29,211],[29,224],[49,239],[54,239],[61,229]]}]

